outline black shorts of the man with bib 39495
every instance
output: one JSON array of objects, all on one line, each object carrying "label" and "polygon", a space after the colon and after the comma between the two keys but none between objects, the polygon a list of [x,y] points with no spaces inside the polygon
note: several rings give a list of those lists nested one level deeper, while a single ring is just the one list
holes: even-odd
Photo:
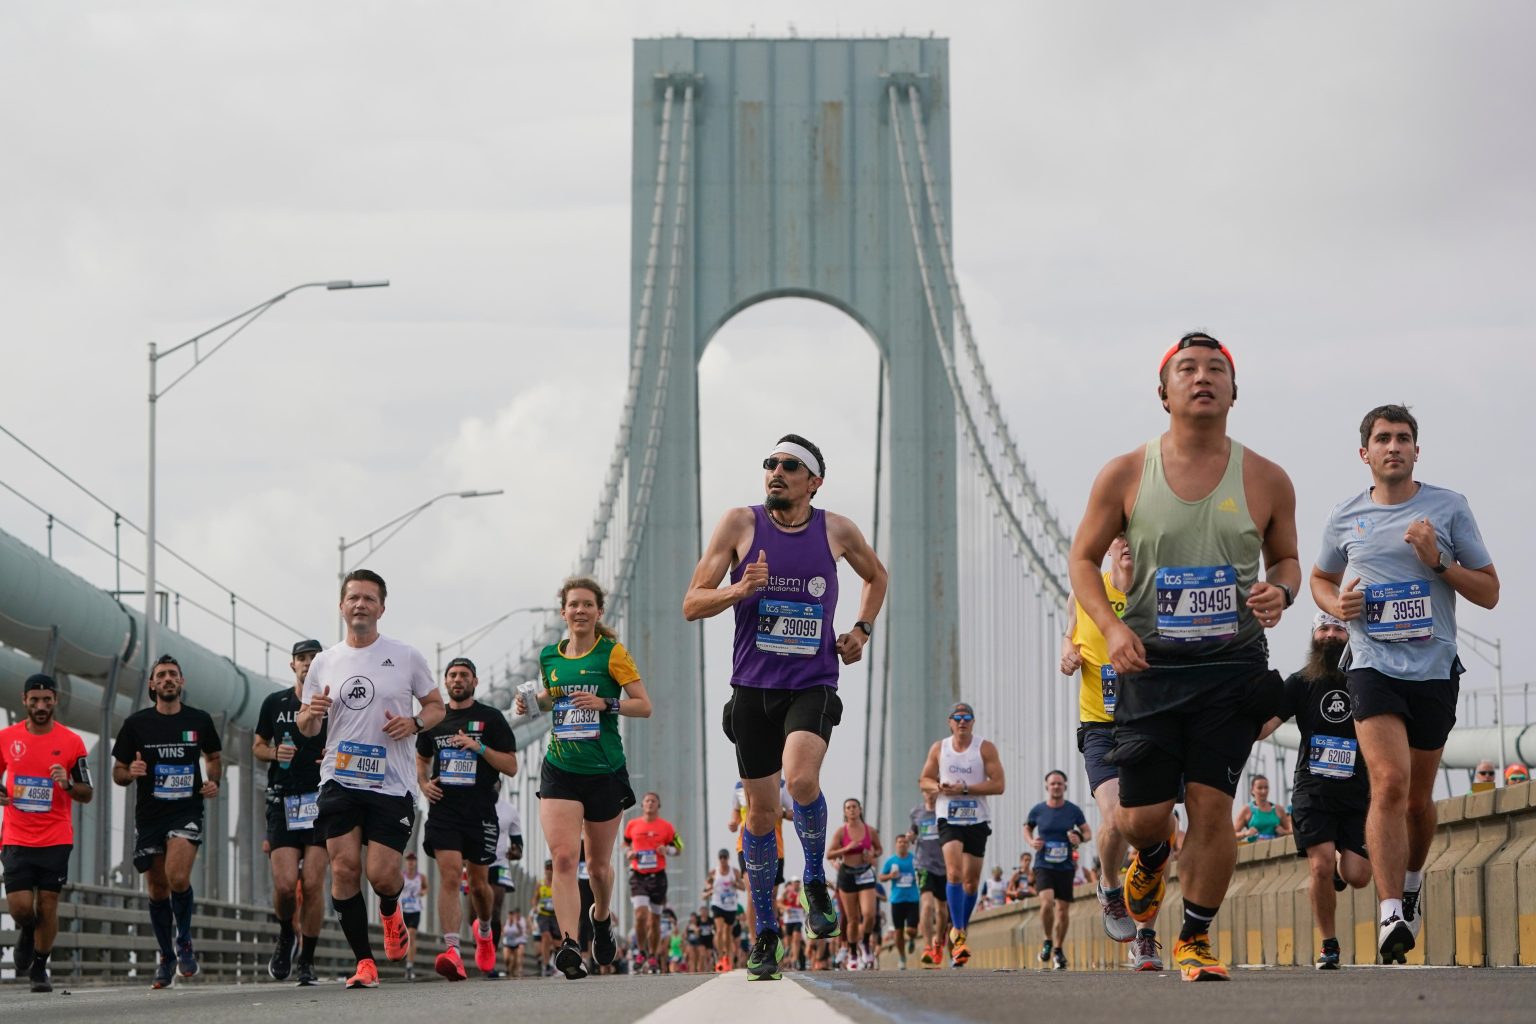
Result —
[{"label": "black shorts of the man with bib 39495", "polygon": [[1260,726],[1284,700],[1267,648],[1253,643],[1229,660],[1154,666],[1127,676],[1115,705],[1120,806],[1177,801],[1186,781],[1236,794]]}]

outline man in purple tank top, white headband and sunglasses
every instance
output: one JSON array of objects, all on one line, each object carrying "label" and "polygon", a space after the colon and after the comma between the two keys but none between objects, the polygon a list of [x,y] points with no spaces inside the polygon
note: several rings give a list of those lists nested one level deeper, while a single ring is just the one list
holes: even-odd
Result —
[{"label": "man in purple tank top, white headband and sunglasses", "polygon": [[[762,505],[720,517],[693,571],[682,614],[690,622],[736,611],[731,699],[725,735],[746,791],[746,860],[757,936],[746,958],[750,981],[776,981],[783,944],[773,906],[779,774],[794,798],[794,831],[805,849],[800,904],[816,938],[837,935],[837,907],[826,890],[826,798],[822,758],[842,718],[837,660],[863,657],[885,602],[886,571],[852,520],[811,508],[826,462],[799,434],[785,434],[763,459]],[[837,560],[863,579],[859,620],[836,636]],[[725,574],[731,582],[722,586]]]}]

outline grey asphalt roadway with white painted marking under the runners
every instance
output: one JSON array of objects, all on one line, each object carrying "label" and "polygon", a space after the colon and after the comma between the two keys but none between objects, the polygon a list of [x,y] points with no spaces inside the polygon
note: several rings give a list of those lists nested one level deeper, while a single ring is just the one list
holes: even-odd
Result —
[{"label": "grey asphalt roadway with white painted marking under the runners", "polygon": [[926,970],[788,973],[780,983],[725,976],[610,976],[584,981],[436,978],[347,992],[339,983],[183,983],[169,992],[58,984],[52,995],[0,986],[0,1019],[17,1024],[226,1024],[301,1019],[436,1024],[542,1021],[573,1024],[962,1024],[1028,1019],[1190,1021],[1243,1024],[1326,1021],[1395,1024],[1536,1021],[1536,969],[1353,967],[1235,970],[1226,984],[1184,984],[1175,973]]}]

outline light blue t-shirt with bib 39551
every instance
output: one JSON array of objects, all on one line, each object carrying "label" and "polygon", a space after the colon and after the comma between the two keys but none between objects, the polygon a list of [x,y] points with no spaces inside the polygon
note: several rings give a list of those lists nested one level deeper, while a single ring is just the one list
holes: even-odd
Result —
[{"label": "light blue t-shirt with bib 39551", "polygon": [[1441,550],[1465,568],[1493,563],[1467,499],[1444,487],[1419,484],[1418,494],[1401,505],[1378,505],[1366,490],[1329,513],[1318,568],[1342,573],[1344,583],[1358,576],[1366,591],[1364,613],[1349,623],[1344,668],[1373,668],[1404,680],[1450,679],[1456,591],[1402,539],[1421,519],[1435,527]]}]

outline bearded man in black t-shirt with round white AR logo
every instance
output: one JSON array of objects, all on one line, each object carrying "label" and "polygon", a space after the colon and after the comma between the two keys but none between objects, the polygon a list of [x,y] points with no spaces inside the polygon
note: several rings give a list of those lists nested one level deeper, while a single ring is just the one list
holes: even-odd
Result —
[{"label": "bearded man in black t-shirt with round white AR logo", "polygon": [[1303,757],[1296,760],[1292,801],[1296,855],[1307,858],[1312,920],[1322,935],[1318,970],[1339,966],[1338,894],[1344,886],[1361,889],[1370,883],[1366,854],[1370,781],[1358,757],[1349,679],[1339,669],[1346,643],[1349,626],[1326,611],[1313,616],[1307,663],[1286,680],[1284,708],[1260,735],[1264,738],[1287,718],[1295,718],[1301,729]]}]

